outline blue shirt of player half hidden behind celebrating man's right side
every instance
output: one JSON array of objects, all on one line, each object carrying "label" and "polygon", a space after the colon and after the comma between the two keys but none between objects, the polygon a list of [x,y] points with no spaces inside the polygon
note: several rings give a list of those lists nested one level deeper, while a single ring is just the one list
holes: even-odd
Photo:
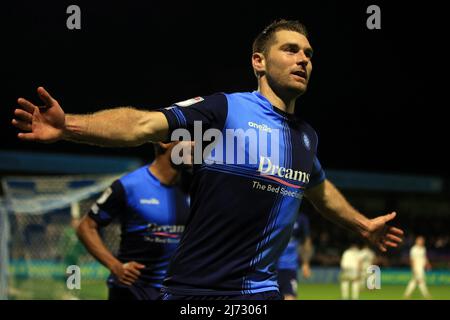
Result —
[{"label": "blue shirt of player half hidden behind celebrating man's right side", "polygon": [[308,216],[302,212],[299,213],[297,220],[294,223],[291,240],[284,249],[283,253],[278,259],[278,269],[298,269],[298,246],[305,238],[309,237],[309,219]]}]

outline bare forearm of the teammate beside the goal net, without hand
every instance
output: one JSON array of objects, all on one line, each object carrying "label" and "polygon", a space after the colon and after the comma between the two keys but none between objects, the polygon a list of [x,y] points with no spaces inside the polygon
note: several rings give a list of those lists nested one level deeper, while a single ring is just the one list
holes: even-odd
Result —
[{"label": "bare forearm of the teammate beside the goal net, without hand", "polygon": [[115,265],[121,263],[103,244],[97,229],[86,224],[80,224],[77,229],[77,236],[83,242],[89,253],[109,270],[112,270]]}]

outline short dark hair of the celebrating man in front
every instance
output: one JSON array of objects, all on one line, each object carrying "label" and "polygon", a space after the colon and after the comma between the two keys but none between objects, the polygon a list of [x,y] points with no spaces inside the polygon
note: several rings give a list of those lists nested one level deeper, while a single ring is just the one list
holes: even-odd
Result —
[{"label": "short dark hair of the celebrating man in front", "polygon": [[274,41],[274,34],[280,30],[296,31],[308,38],[308,31],[306,30],[306,27],[299,21],[285,19],[275,20],[265,27],[264,30],[255,38],[253,41],[253,53],[267,53],[267,50]]}]

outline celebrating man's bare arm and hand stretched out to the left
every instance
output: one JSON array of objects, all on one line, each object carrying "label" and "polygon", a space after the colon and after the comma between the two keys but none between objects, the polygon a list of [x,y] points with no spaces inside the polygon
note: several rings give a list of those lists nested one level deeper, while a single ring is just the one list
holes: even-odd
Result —
[{"label": "celebrating man's bare arm and hand stretched out to the left", "polygon": [[37,89],[44,106],[19,98],[12,124],[18,137],[44,143],[69,140],[106,147],[137,146],[167,139],[168,122],[161,112],[122,107],[87,115],[66,115],[58,101],[43,88]]}]

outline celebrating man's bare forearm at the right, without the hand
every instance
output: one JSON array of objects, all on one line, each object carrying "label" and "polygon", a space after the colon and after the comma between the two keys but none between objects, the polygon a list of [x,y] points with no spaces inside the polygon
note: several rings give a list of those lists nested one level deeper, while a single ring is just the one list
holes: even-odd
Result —
[{"label": "celebrating man's bare forearm at the right, without the hand", "polygon": [[368,232],[369,219],[353,208],[336,187],[328,180],[314,190],[308,198],[327,219],[362,236]]}]

